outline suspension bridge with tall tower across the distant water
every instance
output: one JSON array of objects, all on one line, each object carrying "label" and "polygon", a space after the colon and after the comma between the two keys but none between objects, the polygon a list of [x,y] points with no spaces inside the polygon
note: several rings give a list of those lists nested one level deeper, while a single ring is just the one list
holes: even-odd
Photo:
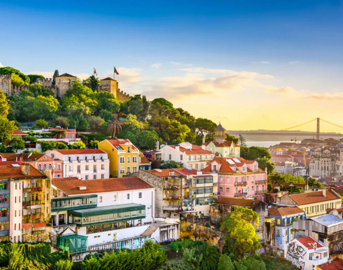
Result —
[{"label": "suspension bridge with tall tower across the distant water", "polygon": [[321,118],[315,118],[300,125],[293,127],[272,130],[272,131],[229,131],[231,135],[268,135],[268,136],[310,136],[315,137],[317,140],[321,136],[325,137],[343,137],[343,126],[333,124]]}]

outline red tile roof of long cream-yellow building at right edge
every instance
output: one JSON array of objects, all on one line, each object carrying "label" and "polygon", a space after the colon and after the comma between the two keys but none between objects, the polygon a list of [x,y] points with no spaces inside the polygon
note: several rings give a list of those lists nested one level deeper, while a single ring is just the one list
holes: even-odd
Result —
[{"label": "red tile roof of long cream-yellow building at right edge", "polygon": [[297,205],[304,205],[304,204],[310,204],[310,203],[341,199],[341,196],[337,195],[335,192],[329,189],[326,190],[325,197],[323,196],[322,191],[294,194],[294,195],[289,195],[289,197],[291,197],[291,199],[293,199]]}]

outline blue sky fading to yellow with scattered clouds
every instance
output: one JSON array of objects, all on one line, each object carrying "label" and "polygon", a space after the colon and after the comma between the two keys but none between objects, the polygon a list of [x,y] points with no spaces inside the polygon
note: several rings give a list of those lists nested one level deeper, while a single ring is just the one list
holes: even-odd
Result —
[{"label": "blue sky fading to yellow with scattered clouds", "polygon": [[341,1],[13,2],[0,2],[3,66],[101,79],[115,64],[121,90],[226,129],[343,125]]}]

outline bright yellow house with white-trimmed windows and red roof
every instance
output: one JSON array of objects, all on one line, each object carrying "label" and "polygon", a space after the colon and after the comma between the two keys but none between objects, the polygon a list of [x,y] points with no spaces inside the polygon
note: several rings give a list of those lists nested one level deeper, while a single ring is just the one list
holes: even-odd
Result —
[{"label": "bright yellow house with white-trimmed windows and red roof", "polygon": [[122,177],[138,171],[139,150],[129,140],[104,140],[99,142],[98,149],[107,153],[109,172],[113,177]]}]

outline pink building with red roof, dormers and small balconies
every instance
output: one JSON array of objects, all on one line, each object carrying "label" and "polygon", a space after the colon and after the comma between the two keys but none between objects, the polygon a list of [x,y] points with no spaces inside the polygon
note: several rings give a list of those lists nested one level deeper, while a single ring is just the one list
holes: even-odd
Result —
[{"label": "pink building with red roof, dormers and small balconies", "polygon": [[216,157],[208,162],[204,172],[218,173],[219,193],[226,198],[253,198],[264,201],[267,192],[267,168],[258,167],[257,161],[242,157]]}]

